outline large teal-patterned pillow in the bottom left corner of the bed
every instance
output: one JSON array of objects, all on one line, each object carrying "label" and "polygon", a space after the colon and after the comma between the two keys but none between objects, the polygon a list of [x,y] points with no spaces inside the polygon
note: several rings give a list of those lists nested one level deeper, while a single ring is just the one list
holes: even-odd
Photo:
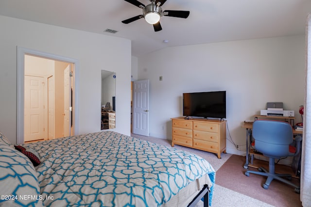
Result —
[{"label": "large teal-patterned pillow in the bottom left corner of the bed", "polygon": [[35,168],[16,149],[0,143],[0,206],[42,207]]}]

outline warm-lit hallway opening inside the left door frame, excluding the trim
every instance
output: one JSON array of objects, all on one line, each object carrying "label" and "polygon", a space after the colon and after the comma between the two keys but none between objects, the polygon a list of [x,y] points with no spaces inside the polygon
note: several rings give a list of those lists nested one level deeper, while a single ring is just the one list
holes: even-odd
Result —
[{"label": "warm-lit hallway opening inside the left door frame, excluding the trim", "polygon": [[24,142],[72,134],[73,64],[25,54]]}]

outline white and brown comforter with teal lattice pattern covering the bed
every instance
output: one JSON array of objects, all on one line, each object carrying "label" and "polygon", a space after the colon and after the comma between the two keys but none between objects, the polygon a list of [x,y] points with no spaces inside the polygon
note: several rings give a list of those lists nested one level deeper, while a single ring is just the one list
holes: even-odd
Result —
[{"label": "white and brown comforter with teal lattice pattern covering the bed", "polygon": [[205,159],[112,131],[26,145],[41,158],[45,206],[158,207],[202,175],[214,186]]}]

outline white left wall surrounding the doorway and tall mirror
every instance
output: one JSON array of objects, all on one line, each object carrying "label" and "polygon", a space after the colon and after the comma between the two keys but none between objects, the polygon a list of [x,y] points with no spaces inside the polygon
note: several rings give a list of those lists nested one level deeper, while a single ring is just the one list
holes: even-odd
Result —
[{"label": "white left wall surrounding the doorway and tall mirror", "polygon": [[16,143],[17,46],[79,62],[79,134],[100,131],[101,70],[117,74],[116,129],[130,134],[131,41],[0,16],[0,131]]}]

